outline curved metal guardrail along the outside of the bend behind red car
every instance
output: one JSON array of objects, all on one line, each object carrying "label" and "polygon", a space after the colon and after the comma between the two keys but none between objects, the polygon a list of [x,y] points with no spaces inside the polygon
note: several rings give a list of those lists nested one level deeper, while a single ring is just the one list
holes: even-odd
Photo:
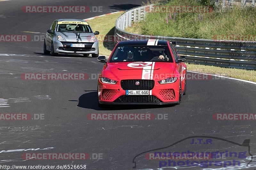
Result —
[{"label": "curved metal guardrail along the outside of the bend behind red car", "polygon": [[159,39],[176,44],[181,55],[187,55],[188,63],[214,65],[229,68],[256,70],[256,41],[224,41],[179,37],[149,36],[129,33],[125,28],[146,18],[149,6],[132,8],[116,19],[115,41]]}]

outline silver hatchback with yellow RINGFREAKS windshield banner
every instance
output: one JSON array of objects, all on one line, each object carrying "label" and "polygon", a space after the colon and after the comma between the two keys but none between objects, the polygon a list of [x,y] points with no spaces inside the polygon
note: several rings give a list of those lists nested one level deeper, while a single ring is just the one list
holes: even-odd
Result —
[{"label": "silver hatchback with yellow RINGFREAKS windshield banner", "polygon": [[56,19],[44,37],[44,54],[99,56],[99,41],[89,24],[81,19]]}]

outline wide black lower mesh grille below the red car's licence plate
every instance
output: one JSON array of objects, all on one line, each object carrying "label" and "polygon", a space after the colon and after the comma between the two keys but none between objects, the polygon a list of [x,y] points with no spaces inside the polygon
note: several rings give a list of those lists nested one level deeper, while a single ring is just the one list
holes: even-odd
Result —
[{"label": "wide black lower mesh grille below the red car's licence plate", "polygon": [[156,96],[120,96],[114,103],[161,103]]}]

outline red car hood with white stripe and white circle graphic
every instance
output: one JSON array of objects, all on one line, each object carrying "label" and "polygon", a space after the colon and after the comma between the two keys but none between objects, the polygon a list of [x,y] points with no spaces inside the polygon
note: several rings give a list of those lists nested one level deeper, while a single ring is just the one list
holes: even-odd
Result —
[{"label": "red car hood with white stripe and white circle graphic", "polygon": [[103,77],[122,79],[154,79],[156,81],[172,77],[174,63],[166,62],[120,62],[108,63]]}]

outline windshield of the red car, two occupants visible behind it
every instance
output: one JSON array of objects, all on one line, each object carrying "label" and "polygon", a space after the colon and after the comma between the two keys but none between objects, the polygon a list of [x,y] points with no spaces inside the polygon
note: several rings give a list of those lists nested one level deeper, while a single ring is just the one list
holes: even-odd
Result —
[{"label": "windshield of the red car, two occupants visible behind it", "polygon": [[114,62],[172,62],[167,46],[119,46],[110,63]]}]

